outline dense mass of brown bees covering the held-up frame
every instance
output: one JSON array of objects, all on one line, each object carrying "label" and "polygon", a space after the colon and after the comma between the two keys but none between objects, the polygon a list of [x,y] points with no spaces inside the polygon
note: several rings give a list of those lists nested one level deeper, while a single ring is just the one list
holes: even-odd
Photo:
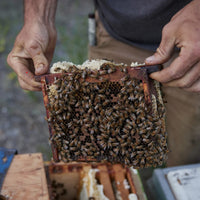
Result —
[{"label": "dense mass of brown bees covering the held-up frame", "polygon": [[47,88],[48,123],[54,130],[50,142],[60,160],[109,161],[134,168],[165,163],[165,108],[157,101],[153,113],[142,82],[131,78],[126,67],[120,69],[124,77],[113,82],[102,78],[115,73],[111,63],[93,71],[71,66]]}]

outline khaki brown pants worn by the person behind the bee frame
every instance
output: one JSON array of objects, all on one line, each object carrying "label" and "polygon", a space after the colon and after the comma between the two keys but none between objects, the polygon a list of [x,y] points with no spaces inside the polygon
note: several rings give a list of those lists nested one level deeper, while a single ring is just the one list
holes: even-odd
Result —
[{"label": "khaki brown pants worn by the person behind the bee frame", "polygon": [[[97,45],[89,47],[90,59],[109,59],[116,63],[141,62],[152,55],[112,38],[96,14]],[[174,56],[175,57],[175,56]],[[173,60],[173,58],[172,58]],[[171,60],[171,61],[172,61]],[[168,66],[169,63],[165,64]],[[167,99],[168,166],[200,162],[200,95],[178,88],[163,88]]]}]

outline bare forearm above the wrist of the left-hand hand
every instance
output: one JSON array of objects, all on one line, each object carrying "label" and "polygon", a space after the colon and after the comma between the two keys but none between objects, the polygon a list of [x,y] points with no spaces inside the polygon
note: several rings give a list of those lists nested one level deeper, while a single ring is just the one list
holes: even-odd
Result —
[{"label": "bare forearm above the wrist of the left-hand hand", "polygon": [[57,0],[24,0],[24,23],[40,20],[54,24],[56,7]]}]

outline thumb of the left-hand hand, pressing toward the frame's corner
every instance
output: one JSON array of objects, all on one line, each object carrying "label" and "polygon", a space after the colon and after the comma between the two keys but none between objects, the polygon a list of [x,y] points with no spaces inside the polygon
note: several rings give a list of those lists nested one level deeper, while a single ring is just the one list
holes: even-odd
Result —
[{"label": "thumb of the left-hand hand, pressing toward the frame's corner", "polygon": [[29,46],[26,49],[28,54],[33,60],[35,67],[35,74],[36,75],[45,74],[49,69],[49,63],[43,53],[43,49],[40,46],[40,44],[33,42],[29,44]]}]

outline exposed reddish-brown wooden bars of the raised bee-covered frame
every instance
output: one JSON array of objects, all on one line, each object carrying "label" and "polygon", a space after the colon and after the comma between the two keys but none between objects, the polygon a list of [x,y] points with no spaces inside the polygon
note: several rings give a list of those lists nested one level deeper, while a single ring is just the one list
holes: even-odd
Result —
[{"label": "exposed reddish-brown wooden bars of the raised bee-covered frame", "polygon": [[[145,102],[147,104],[151,104],[152,107],[154,107],[154,104],[156,104],[155,98],[159,99],[159,95],[157,88],[155,86],[155,81],[149,77],[149,74],[161,70],[162,65],[153,65],[153,66],[142,65],[136,67],[127,66],[126,69],[127,69],[127,74],[131,78],[135,78],[142,81]],[[57,78],[61,77],[62,75],[63,75],[62,73],[55,73],[55,74],[46,74],[35,77],[36,81],[41,81],[42,83],[43,100],[46,108],[47,120],[50,117],[48,109],[49,99],[47,94],[47,85],[51,85]],[[66,73],[66,75],[70,75],[70,73]],[[116,71],[114,73],[101,75],[101,77],[109,79],[109,81],[111,82],[120,82],[124,76],[125,76],[124,72],[121,72],[119,67],[116,68]],[[101,80],[92,77],[87,77],[85,81],[102,82]],[[48,123],[48,126],[49,126],[50,137],[52,137],[52,135],[54,134],[54,129],[51,127],[50,123]],[[51,148],[52,148],[53,160],[55,162],[59,162],[60,159],[58,156],[58,150],[56,149],[54,142],[51,143]],[[80,159],[79,161],[83,160]],[[95,161],[95,160],[88,160],[88,161]]]}]

